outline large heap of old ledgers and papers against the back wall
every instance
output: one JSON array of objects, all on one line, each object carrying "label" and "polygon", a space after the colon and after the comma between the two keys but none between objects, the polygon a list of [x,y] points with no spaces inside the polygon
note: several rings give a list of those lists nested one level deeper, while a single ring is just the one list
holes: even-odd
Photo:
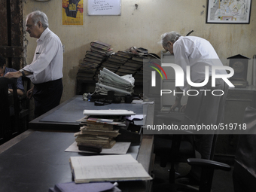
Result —
[{"label": "large heap of old ledgers and papers against the back wall", "polygon": [[[114,53],[110,44],[101,41],[92,41],[90,46],[90,50],[87,51],[78,69],[77,79],[98,81],[96,83],[96,93],[100,95],[107,95],[108,90],[114,90],[115,96],[133,94],[134,84],[142,84],[144,81],[143,66],[152,59],[160,61],[154,53],[148,53],[148,50],[143,48],[131,47],[129,50],[118,50]],[[118,78],[115,77],[114,81],[112,79],[105,81],[105,78],[102,78],[103,69],[108,69]],[[127,75],[129,75],[129,78],[133,78],[134,81],[128,85],[125,82],[123,86],[123,81],[119,81],[119,77],[126,79]]]}]

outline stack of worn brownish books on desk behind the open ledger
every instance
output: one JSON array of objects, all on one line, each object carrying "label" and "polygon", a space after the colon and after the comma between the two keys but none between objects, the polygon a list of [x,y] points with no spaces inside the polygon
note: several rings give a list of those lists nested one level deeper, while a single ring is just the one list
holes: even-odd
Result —
[{"label": "stack of worn brownish books on desk behind the open ledger", "polygon": [[112,148],[116,143],[114,139],[120,134],[118,126],[126,126],[126,123],[89,117],[81,122],[80,132],[75,133],[75,141],[78,146]]}]

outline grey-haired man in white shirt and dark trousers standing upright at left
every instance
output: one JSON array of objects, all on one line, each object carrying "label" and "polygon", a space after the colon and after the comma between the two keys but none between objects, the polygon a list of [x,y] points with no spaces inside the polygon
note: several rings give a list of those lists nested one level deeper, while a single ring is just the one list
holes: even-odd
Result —
[{"label": "grey-haired man in white shirt and dark trousers standing upright at left", "polygon": [[30,78],[34,87],[28,91],[35,100],[35,117],[59,105],[62,96],[62,43],[48,28],[48,18],[41,11],[34,11],[26,17],[26,32],[38,38],[35,55],[30,65],[18,72],[9,72],[7,78]]}]

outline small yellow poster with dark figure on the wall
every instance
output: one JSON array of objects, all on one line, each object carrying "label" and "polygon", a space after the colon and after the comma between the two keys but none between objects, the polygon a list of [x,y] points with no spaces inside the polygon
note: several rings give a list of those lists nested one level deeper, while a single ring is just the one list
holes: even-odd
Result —
[{"label": "small yellow poster with dark figure on the wall", "polygon": [[62,25],[82,26],[84,0],[62,0]]}]

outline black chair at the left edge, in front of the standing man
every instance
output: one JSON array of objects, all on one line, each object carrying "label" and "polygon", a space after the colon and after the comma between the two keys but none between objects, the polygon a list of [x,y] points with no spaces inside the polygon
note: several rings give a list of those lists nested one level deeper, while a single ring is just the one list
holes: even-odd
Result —
[{"label": "black chair at the left edge, in front of the standing man", "polygon": [[[8,93],[8,85],[11,84],[13,93]],[[20,130],[19,123],[19,99],[17,95],[17,79],[0,78],[0,143],[4,143]]]}]

